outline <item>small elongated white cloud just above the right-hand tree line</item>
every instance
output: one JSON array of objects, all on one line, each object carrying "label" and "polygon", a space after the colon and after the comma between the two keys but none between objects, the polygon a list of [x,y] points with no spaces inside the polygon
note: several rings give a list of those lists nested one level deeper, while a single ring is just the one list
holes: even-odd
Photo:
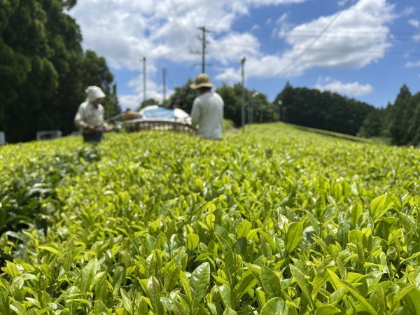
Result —
[{"label": "small elongated white cloud just above the right-hand tree line", "polygon": [[358,82],[342,83],[332,78],[318,78],[318,83],[316,83],[314,88],[321,91],[337,92],[349,97],[360,97],[373,91],[373,87],[370,84],[360,84]]}]

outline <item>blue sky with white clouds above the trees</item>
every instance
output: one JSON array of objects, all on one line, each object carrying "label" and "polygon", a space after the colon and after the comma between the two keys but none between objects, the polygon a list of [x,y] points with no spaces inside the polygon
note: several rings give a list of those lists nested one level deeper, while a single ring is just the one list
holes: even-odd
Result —
[{"label": "blue sky with white clouds above the trees", "polygon": [[163,99],[201,72],[216,87],[241,81],[273,101],[286,82],[377,107],[406,84],[420,90],[419,0],[78,0],[69,11],[83,47],[106,58],[123,109]]}]

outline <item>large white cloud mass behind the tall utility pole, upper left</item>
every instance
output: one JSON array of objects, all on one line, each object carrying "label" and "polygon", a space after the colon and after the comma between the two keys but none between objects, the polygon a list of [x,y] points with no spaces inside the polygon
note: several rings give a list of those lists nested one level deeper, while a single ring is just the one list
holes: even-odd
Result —
[{"label": "large white cloud mass behind the tall utility pole, upper left", "polygon": [[[200,50],[198,27],[211,33],[211,55],[228,62],[239,55],[255,55],[258,39],[251,34],[233,34],[235,20],[252,7],[303,3],[307,0],[84,0],[69,11],[83,33],[83,45],[106,57],[116,69],[141,70],[139,56],[149,62],[167,59],[194,62],[190,50]],[[226,50],[226,45],[231,48]]]}]

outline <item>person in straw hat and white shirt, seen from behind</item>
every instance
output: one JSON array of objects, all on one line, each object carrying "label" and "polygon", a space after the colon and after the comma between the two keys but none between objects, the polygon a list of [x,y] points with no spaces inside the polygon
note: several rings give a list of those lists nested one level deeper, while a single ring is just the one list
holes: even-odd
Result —
[{"label": "person in straw hat and white shirt, seen from behind", "polygon": [[213,84],[206,73],[201,73],[190,87],[200,95],[194,99],[191,123],[198,127],[197,135],[206,139],[222,139],[223,99],[211,91]]}]

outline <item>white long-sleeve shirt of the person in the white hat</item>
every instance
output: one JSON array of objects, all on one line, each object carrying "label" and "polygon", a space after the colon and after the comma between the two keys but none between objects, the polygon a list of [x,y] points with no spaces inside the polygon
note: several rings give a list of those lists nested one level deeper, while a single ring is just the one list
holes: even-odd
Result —
[{"label": "white long-sleeve shirt of the person in the white hat", "polygon": [[104,106],[83,102],[74,117],[74,123],[82,132],[86,132],[86,128],[90,125],[97,128],[104,127]]}]

